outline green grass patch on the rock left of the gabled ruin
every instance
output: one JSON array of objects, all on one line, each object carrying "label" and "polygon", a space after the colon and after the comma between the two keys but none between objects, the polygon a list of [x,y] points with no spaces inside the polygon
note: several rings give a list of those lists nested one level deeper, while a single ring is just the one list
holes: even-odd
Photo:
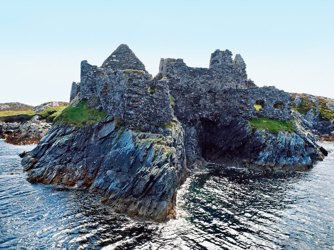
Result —
[{"label": "green grass patch on the rock left of the gabled ruin", "polygon": [[94,124],[102,121],[107,114],[99,110],[89,109],[86,101],[79,102],[77,107],[67,106],[54,118],[54,122],[60,120],[63,123],[71,124],[74,127],[83,128],[86,124]]}]

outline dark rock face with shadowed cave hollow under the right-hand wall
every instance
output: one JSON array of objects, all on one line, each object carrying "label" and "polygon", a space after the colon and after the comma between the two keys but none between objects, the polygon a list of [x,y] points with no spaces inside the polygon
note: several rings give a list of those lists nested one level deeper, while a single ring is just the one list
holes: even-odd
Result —
[{"label": "dark rock face with shadowed cave hollow under the right-hand wall", "polygon": [[312,167],[323,155],[313,137],[296,132],[254,130],[241,117],[199,118],[187,122],[187,167],[201,169],[206,161],[262,170],[298,170]]}]

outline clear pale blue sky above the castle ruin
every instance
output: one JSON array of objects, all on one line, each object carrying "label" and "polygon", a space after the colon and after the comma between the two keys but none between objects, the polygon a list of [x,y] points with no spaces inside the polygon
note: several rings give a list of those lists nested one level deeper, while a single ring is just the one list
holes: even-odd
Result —
[{"label": "clear pale blue sky above the castle ruin", "polygon": [[161,57],[208,67],[229,49],[258,86],[334,98],[333,0],[0,3],[0,103],[68,101],[80,61],[121,43],[152,75]]}]

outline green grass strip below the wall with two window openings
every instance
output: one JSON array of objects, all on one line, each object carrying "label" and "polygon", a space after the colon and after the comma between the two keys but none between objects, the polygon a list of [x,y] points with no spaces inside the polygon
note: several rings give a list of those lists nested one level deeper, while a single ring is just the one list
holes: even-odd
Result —
[{"label": "green grass strip below the wall with two window openings", "polygon": [[252,127],[256,129],[264,129],[266,130],[267,128],[271,133],[278,133],[279,131],[296,131],[293,126],[294,126],[294,121],[287,122],[287,120],[279,121],[279,120],[274,120],[274,119],[269,119],[267,117],[252,117],[248,120]]}]

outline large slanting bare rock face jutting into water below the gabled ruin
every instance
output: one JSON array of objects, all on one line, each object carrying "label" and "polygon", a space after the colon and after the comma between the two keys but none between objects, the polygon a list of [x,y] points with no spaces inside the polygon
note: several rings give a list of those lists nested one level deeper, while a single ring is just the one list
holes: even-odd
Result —
[{"label": "large slanting bare rock face jutting into water below the gabled ruin", "polygon": [[125,129],[121,136],[108,119],[83,129],[54,125],[22,164],[32,183],[89,187],[116,212],[168,220],[186,177],[184,132],[175,122],[171,129]]}]

